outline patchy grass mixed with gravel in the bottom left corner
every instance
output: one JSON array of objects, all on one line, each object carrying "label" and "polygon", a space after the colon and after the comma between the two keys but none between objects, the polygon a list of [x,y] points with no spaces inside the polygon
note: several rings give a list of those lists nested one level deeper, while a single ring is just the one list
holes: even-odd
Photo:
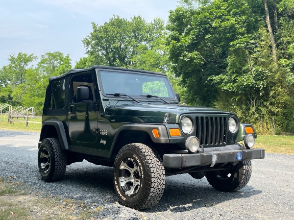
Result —
[{"label": "patchy grass mixed with gravel in the bottom left corner", "polygon": [[0,220],[87,220],[98,217],[103,209],[73,199],[29,195],[27,191],[23,183],[0,178]]}]

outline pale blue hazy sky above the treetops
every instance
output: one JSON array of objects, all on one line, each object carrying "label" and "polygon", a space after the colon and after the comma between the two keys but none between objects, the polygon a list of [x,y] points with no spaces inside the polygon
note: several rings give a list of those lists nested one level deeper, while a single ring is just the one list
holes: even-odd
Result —
[{"label": "pale blue hazy sky above the treetops", "polygon": [[168,22],[178,0],[0,0],[0,68],[9,55],[70,54],[73,66],[85,56],[82,39],[92,22],[102,25],[113,15],[146,22],[159,17]]}]

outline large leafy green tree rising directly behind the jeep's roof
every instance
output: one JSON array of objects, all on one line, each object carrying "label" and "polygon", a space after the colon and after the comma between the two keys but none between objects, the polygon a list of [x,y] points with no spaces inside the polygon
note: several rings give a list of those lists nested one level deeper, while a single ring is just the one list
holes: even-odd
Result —
[{"label": "large leafy green tree rising directly behind the jeep's roof", "polygon": [[83,39],[88,57],[81,59],[77,66],[95,63],[115,67],[134,67],[134,62],[136,63],[134,56],[139,57],[139,53],[142,54],[147,50],[156,51],[157,40],[166,34],[161,19],[147,23],[141,16],[130,20],[114,16],[103,25],[92,23],[92,27],[93,31]]}]

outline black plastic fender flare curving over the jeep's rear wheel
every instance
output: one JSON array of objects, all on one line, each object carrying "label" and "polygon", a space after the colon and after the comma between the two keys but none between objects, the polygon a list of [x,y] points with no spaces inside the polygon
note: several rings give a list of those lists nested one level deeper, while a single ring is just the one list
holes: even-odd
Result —
[{"label": "black plastic fender flare curving over the jeep's rear wheel", "polygon": [[[41,134],[40,134],[40,142],[43,141],[43,139],[46,138],[46,130],[45,127],[46,126],[54,126],[58,135],[58,139],[60,142],[60,146],[62,149],[64,150],[68,150],[69,149],[69,145],[68,145],[68,140],[67,140],[67,135],[64,129],[64,125],[63,122],[61,121],[46,121],[42,124],[42,130],[41,130]],[[38,147],[39,148],[39,147]]]}]

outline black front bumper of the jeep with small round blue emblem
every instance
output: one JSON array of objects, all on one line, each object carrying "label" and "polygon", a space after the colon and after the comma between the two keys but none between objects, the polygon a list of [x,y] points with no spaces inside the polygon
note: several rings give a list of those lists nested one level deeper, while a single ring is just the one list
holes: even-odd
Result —
[{"label": "black front bumper of the jeep with small round blue emblem", "polygon": [[243,159],[263,159],[265,158],[264,149],[230,149],[223,151],[204,151],[202,153],[183,153],[183,154],[164,154],[163,166],[167,168],[185,168],[195,166],[207,166],[213,163],[213,156],[217,157],[216,164],[222,163],[234,163],[239,162],[237,160],[237,153],[242,152]]}]

